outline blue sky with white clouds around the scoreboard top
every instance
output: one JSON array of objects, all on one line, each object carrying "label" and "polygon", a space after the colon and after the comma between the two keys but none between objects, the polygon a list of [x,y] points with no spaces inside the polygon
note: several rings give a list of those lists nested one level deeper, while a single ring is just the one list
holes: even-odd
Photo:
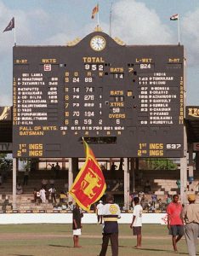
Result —
[{"label": "blue sky with white clouds around the scoreboard top", "polygon": [[[99,0],[99,26],[130,45],[185,46],[187,105],[199,105],[199,1]],[[12,105],[14,30],[17,45],[65,45],[94,32],[91,14],[97,0],[0,0],[0,106]],[[111,8],[112,6],[112,8]],[[171,21],[179,14],[178,21]]]}]

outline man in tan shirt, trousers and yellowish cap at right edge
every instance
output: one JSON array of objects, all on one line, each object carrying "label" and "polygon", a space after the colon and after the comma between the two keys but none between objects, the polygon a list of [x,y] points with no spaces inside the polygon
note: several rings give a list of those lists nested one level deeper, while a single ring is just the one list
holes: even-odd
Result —
[{"label": "man in tan shirt, trousers and yellowish cap at right edge", "polygon": [[185,219],[185,239],[190,256],[196,256],[197,237],[199,236],[199,206],[195,204],[196,195],[188,195],[189,205],[183,209]]}]

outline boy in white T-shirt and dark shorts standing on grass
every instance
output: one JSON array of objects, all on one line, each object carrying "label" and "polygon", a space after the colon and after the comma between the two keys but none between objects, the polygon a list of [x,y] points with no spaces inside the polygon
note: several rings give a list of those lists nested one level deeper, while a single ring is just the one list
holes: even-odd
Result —
[{"label": "boy in white T-shirt and dark shorts standing on grass", "polygon": [[139,205],[139,197],[134,197],[134,212],[130,228],[133,228],[133,234],[137,236],[137,245],[135,248],[140,248],[142,242],[142,211],[143,208]]}]

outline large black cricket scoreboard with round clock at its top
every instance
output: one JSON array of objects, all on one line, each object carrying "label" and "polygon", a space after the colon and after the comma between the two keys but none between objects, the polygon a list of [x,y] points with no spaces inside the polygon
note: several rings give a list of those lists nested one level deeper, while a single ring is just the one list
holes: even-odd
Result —
[{"label": "large black cricket scoreboard with round clock at its top", "polygon": [[184,47],[14,47],[14,157],[181,157]]}]

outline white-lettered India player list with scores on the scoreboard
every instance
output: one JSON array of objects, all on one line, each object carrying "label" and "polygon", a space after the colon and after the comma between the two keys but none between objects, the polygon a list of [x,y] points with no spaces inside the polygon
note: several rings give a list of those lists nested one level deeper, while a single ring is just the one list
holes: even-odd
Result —
[{"label": "white-lettered India player list with scores on the scoreboard", "polygon": [[169,73],[153,73],[139,76],[138,79],[139,124],[182,124],[183,78],[176,78]]}]

